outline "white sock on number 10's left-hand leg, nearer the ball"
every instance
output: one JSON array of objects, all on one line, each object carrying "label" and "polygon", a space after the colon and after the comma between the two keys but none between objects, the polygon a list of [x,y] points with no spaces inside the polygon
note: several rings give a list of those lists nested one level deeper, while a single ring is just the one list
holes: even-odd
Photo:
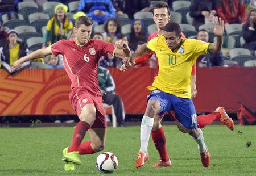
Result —
[{"label": "white sock on number 10's left-hand leg, nearer the ball", "polygon": [[150,118],[146,115],[143,116],[141,121],[141,148],[139,149],[139,151],[143,153],[147,153],[148,141],[153,124],[154,118]]}]

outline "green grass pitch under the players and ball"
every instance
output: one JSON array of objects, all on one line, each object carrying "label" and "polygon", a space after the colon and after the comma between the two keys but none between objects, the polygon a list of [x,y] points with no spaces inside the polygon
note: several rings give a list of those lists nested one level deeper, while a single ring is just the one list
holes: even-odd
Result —
[{"label": "green grass pitch under the players and ball", "polygon": [[[175,125],[163,127],[172,166],[156,169],[151,168],[159,160],[152,139],[150,162],[140,169],[134,167],[139,126],[108,128],[104,151],[118,158],[112,175],[256,175],[256,126],[236,125],[234,131],[224,125],[203,128],[211,156],[208,168],[202,166],[196,142],[188,134]],[[75,171],[64,171],[61,152],[70,145],[72,135],[72,127],[0,128],[0,175],[102,175],[95,167],[100,153],[82,156],[82,165]]]}]

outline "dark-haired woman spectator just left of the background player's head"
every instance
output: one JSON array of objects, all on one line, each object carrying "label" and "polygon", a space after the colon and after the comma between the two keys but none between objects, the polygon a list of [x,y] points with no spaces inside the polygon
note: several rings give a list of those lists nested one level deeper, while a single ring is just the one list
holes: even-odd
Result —
[{"label": "dark-haired woman spectator just left of the background player's head", "polygon": [[135,50],[139,41],[147,42],[147,32],[144,29],[142,20],[135,19],[131,22],[129,47]]}]

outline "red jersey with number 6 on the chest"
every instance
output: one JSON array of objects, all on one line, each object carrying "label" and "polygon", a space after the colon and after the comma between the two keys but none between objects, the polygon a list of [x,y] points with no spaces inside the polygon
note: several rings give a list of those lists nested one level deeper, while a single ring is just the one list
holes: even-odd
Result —
[{"label": "red jersey with number 6 on the chest", "polygon": [[82,87],[93,95],[101,96],[98,85],[98,61],[101,56],[112,55],[115,46],[104,40],[90,39],[82,47],[75,39],[60,40],[51,46],[54,55],[62,55],[64,68],[71,80],[71,90]]}]

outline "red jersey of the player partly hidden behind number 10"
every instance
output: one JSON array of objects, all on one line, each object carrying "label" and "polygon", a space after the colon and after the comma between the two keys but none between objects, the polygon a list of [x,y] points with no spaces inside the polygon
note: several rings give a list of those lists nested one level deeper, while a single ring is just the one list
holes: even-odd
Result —
[{"label": "red jersey of the player partly hidden behind number 10", "polygon": [[[184,35],[183,32],[181,32],[181,36],[183,37],[183,39],[186,38],[186,36]],[[154,39],[156,37],[159,37],[158,35],[158,31],[155,31],[155,32],[152,32],[148,37],[147,37],[147,41],[150,41],[151,39]],[[154,54],[154,52],[152,51],[147,51],[146,54],[138,57],[138,58],[135,58],[135,62],[136,62],[136,65],[138,64],[141,64],[142,62],[144,61],[148,61],[150,60],[150,58],[152,57],[152,55]],[[156,57],[156,55],[155,55]],[[156,57],[157,59],[157,57]],[[158,73],[158,59],[156,60],[156,74]],[[192,75],[195,75],[196,74],[196,63],[193,64],[192,66],[192,71],[191,71],[191,74]]]}]

